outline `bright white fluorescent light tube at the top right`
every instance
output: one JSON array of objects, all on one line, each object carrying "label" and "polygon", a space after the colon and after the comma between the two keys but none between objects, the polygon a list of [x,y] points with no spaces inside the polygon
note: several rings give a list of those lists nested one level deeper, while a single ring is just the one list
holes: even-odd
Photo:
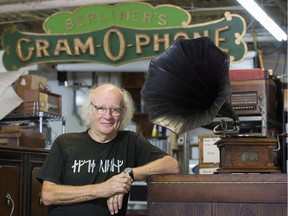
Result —
[{"label": "bright white fluorescent light tube at the top right", "polygon": [[254,0],[237,0],[278,41],[286,41],[287,34],[262,10]]}]

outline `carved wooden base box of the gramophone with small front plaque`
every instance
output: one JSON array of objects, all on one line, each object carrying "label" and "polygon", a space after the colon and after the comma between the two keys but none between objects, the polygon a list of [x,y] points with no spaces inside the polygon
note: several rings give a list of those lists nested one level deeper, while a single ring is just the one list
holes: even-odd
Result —
[{"label": "carved wooden base box of the gramophone with small front plaque", "polygon": [[276,138],[224,137],[215,145],[220,151],[219,173],[280,172],[274,158]]}]

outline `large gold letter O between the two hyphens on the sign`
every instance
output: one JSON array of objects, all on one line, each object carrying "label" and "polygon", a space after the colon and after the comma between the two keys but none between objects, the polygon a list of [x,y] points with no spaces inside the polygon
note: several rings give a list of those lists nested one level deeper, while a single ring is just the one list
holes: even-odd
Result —
[{"label": "large gold letter O between the two hyphens on the sign", "polygon": [[[120,43],[120,47],[119,47],[119,53],[117,56],[113,56],[113,53],[111,52],[111,47],[110,47],[110,36],[112,34],[116,34],[118,39],[119,39],[119,43]],[[115,30],[115,29],[111,29],[108,32],[106,32],[106,34],[104,35],[104,52],[106,54],[106,56],[112,60],[112,61],[118,61],[120,60],[125,53],[125,38],[122,32],[120,32],[119,30]]]}]

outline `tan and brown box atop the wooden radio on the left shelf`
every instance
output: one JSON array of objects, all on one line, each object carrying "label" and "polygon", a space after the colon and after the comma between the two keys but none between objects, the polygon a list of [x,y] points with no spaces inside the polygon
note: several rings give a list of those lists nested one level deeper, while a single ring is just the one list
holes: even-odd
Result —
[{"label": "tan and brown box atop the wooden radio on the left shelf", "polygon": [[47,83],[48,80],[46,77],[35,74],[23,75],[16,81],[16,93],[24,99],[25,90],[45,89]]}]

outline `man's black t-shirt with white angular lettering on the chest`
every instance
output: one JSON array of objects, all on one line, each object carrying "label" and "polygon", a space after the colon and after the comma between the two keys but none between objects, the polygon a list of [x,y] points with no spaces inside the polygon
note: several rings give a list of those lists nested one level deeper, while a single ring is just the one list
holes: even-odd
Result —
[{"label": "man's black t-shirt with white angular lettering on the chest", "polygon": [[[88,131],[62,134],[52,145],[38,180],[62,185],[87,185],[106,181],[126,167],[137,167],[166,156],[143,136],[119,131],[108,143],[93,140]],[[117,215],[125,215],[128,195]],[[49,216],[110,215],[106,199],[85,203],[50,206]]]}]

